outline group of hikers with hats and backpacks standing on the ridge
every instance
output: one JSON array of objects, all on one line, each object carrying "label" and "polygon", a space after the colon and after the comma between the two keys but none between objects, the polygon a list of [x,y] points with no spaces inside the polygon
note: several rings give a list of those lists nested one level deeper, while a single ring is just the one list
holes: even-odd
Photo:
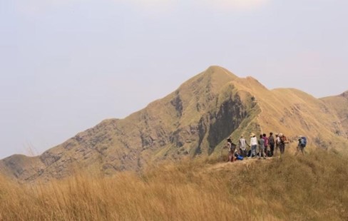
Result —
[{"label": "group of hikers with hats and backpacks standing on the ridge", "polygon": [[[299,136],[299,144],[297,145],[297,150],[300,150],[303,154],[303,150],[307,143],[307,139]],[[305,144],[304,144],[305,142]],[[275,136],[272,132],[267,136],[265,133],[260,134],[259,138],[255,133],[250,134],[250,143],[247,143],[244,135],[240,136],[238,140],[238,145],[232,143],[231,138],[227,139],[227,148],[229,150],[228,161],[234,162],[236,156],[241,156],[242,158],[266,158],[272,157],[277,154],[277,151],[280,151],[280,155],[285,152],[285,144],[289,143],[287,137],[282,133],[275,133]],[[250,150],[247,150],[247,146]]]}]

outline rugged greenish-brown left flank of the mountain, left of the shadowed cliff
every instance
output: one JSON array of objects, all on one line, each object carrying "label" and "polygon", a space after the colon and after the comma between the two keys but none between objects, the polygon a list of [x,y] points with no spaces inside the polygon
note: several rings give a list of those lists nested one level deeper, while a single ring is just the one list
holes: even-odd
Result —
[{"label": "rugged greenish-brown left flank of the mountain, left of the shadowed cliff", "polygon": [[[20,174],[20,179],[35,179],[37,170],[46,165],[41,178],[61,178],[72,170],[138,170],[139,166],[160,160],[178,151],[173,136],[178,131],[183,136],[181,150],[193,152],[198,138],[186,142],[184,137],[198,130],[197,125],[205,113],[215,111],[211,105],[220,88],[237,78],[218,66],[211,66],[183,83],[178,90],[165,98],[150,103],[143,110],[125,119],[103,120],[93,128],[78,133],[75,137],[39,156],[31,173]],[[199,106],[199,108],[198,108]],[[198,131],[195,131],[198,137]],[[192,151],[193,150],[193,151]],[[13,161],[17,158],[11,157]],[[18,160],[17,160],[18,161]],[[42,161],[42,162],[41,162]],[[19,162],[17,162],[19,163]],[[36,168],[40,165],[40,168]],[[30,165],[24,165],[30,166]],[[9,170],[16,168],[11,167]]]}]

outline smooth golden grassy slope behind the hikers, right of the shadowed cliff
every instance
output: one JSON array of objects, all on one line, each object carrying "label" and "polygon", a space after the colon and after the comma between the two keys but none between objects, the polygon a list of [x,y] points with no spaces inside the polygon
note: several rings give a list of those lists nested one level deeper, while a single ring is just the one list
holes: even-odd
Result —
[{"label": "smooth golden grassy slope behind the hikers, right of the shadowed cliff", "polygon": [[[237,78],[233,83],[239,91],[255,96],[260,106],[260,114],[255,119],[258,127],[252,132],[284,133],[293,141],[290,144],[292,150],[295,150],[297,136],[305,135],[309,138],[308,148],[336,148],[348,153],[347,138],[337,135],[337,131],[347,130],[347,125],[339,123],[339,115],[322,100],[292,88],[270,91],[251,77]],[[340,111],[347,113],[347,106],[342,106]],[[250,132],[248,128],[240,128],[233,137]]]}]

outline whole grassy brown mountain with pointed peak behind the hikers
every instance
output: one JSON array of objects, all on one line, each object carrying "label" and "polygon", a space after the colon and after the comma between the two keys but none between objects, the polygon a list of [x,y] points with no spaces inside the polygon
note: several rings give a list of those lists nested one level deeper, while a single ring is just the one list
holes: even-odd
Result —
[{"label": "whole grassy brown mountain with pointed peak behind the hikers", "polygon": [[251,132],[282,132],[290,140],[306,135],[309,148],[343,153],[347,107],[347,93],[317,99],[291,88],[270,91],[255,78],[211,66],[127,118],[103,120],[36,157],[0,160],[0,172],[28,182],[80,170],[138,171],[165,159],[220,155],[227,137],[236,143]]}]

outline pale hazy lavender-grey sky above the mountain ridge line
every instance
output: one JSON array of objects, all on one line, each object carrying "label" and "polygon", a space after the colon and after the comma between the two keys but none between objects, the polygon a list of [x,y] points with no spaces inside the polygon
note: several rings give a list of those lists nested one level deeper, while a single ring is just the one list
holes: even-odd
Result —
[{"label": "pale hazy lavender-grey sky above the mountain ridge line", "polygon": [[0,158],[39,155],[218,65],[348,90],[346,0],[0,0]]}]

